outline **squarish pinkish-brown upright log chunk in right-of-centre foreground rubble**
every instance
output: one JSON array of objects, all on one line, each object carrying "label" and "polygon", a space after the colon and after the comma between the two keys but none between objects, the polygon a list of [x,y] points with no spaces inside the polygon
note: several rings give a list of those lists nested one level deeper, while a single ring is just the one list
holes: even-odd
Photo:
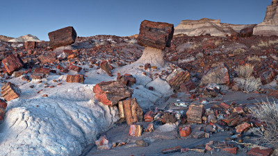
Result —
[{"label": "squarish pinkish-brown upright log chunk in right-of-centre foreground rubble", "polygon": [[204,105],[189,105],[186,112],[187,121],[192,123],[202,123],[202,116],[204,114]]}]

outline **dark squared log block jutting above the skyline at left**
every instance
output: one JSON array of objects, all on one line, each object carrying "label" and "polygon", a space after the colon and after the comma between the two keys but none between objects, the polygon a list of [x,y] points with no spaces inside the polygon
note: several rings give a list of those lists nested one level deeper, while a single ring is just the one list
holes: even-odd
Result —
[{"label": "dark squared log block jutting above the skyline at left", "polygon": [[75,42],[76,31],[72,26],[67,26],[65,28],[58,29],[57,31],[52,31],[48,33],[49,36],[49,46],[56,49],[59,46],[68,46]]}]

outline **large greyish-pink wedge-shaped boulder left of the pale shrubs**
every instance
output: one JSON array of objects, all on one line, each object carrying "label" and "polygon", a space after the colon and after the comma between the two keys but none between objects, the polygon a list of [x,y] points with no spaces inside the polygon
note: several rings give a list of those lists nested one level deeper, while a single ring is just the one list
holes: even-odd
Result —
[{"label": "large greyish-pink wedge-shaped boulder left of the pale shrubs", "polygon": [[208,71],[201,79],[202,85],[208,84],[228,85],[230,83],[229,70],[225,64],[220,64],[218,67]]}]

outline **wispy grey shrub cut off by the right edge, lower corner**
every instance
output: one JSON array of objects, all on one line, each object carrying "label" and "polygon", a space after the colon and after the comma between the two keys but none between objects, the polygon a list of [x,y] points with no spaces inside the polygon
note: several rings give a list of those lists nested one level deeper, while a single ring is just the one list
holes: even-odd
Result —
[{"label": "wispy grey shrub cut off by the right edge, lower corner", "polygon": [[265,122],[264,130],[253,129],[259,141],[278,148],[278,101],[264,102],[252,109],[252,114]]}]

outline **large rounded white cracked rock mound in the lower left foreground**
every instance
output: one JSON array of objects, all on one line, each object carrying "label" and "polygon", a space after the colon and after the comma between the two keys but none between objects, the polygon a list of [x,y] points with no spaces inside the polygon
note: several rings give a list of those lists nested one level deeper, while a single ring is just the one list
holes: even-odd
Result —
[{"label": "large rounded white cracked rock mound in the lower left foreground", "polygon": [[90,99],[92,87],[67,83],[46,91],[47,98],[22,98],[8,102],[0,125],[0,155],[81,155],[118,119],[116,107]]}]

